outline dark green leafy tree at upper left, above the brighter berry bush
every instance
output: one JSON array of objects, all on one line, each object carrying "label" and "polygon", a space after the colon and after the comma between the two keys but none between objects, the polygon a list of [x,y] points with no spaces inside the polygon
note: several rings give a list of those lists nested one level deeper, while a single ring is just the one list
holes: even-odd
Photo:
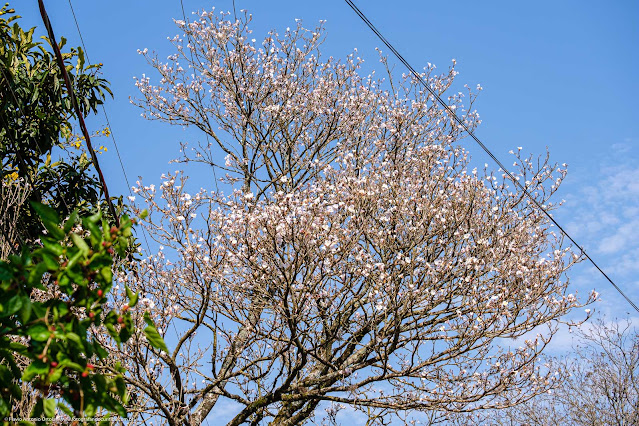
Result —
[{"label": "dark green leafy tree at upper left, above the brighter berry bush", "polygon": [[[49,41],[34,40],[34,28],[24,31],[12,13],[7,5],[0,9],[0,178],[22,179],[30,187],[29,200],[46,202],[62,217],[75,208],[90,210],[100,185],[86,156],[65,149],[76,117],[61,71]],[[64,43],[62,38],[61,47]],[[98,76],[99,66],[87,65],[79,47],[63,53],[63,59],[82,114],[97,112],[111,94]],[[52,161],[52,154],[59,161]],[[19,239],[30,243],[40,223],[25,207]]]}]

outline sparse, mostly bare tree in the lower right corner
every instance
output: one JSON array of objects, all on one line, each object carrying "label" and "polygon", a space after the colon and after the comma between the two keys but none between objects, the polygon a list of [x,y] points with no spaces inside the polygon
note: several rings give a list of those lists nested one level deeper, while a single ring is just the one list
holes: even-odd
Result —
[{"label": "sparse, mostly bare tree in the lower right corner", "polygon": [[630,320],[577,329],[556,365],[570,374],[551,392],[506,410],[459,416],[459,424],[633,425],[639,422],[639,335]]}]

